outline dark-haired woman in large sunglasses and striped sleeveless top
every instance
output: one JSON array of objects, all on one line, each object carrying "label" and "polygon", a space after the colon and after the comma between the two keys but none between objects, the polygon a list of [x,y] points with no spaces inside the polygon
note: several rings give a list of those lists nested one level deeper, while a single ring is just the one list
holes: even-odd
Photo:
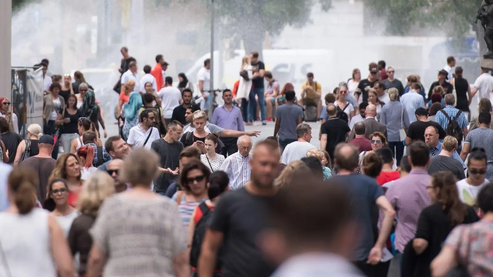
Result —
[{"label": "dark-haired woman in large sunglasses and striped sleeveless top", "polygon": [[172,199],[178,204],[181,221],[185,228],[188,228],[195,208],[208,199],[207,183],[210,175],[209,168],[198,159],[187,164],[180,174],[181,190],[176,192]]}]

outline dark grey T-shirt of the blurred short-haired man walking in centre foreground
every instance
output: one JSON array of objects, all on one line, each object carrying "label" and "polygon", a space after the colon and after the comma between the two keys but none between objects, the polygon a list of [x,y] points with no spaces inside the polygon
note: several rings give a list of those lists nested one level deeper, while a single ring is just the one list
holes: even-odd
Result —
[{"label": "dark grey T-shirt of the blurred short-haired man walking in centre foreground", "polygon": [[258,247],[259,235],[267,228],[271,199],[250,194],[245,187],[221,196],[210,227],[224,234],[224,276],[269,277],[274,272]]}]

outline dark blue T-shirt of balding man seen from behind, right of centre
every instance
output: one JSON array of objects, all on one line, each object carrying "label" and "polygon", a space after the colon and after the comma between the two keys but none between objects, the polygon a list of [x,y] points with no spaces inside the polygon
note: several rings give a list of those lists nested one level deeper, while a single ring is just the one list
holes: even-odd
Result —
[{"label": "dark blue T-shirt of balding man seen from behind, right of centre", "polygon": [[377,234],[373,233],[372,209],[377,199],[384,195],[375,179],[362,174],[335,175],[332,180],[338,180],[350,191],[353,203],[355,222],[361,231],[358,236],[352,261],[366,261],[371,248],[375,245]]}]

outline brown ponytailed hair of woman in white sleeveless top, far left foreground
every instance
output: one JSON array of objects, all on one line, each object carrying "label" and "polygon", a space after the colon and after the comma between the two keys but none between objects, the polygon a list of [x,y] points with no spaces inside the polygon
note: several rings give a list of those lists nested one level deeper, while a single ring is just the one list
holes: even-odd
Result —
[{"label": "brown ponytailed hair of woman in white sleeveless top, far left foreground", "polygon": [[20,214],[29,213],[36,202],[37,173],[26,166],[16,166],[8,176],[8,189]]}]

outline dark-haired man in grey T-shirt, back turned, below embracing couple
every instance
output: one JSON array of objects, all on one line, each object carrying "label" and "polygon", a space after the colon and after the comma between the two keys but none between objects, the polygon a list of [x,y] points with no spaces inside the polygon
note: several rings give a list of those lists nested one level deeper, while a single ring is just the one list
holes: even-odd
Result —
[{"label": "dark-haired man in grey T-shirt, back turned, below embracing couple", "polygon": [[279,144],[284,149],[287,144],[298,140],[296,126],[303,122],[303,108],[294,104],[296,94],[292,90],[285,93],[286,103],[276,109],[274,137],[279,134]]}]

